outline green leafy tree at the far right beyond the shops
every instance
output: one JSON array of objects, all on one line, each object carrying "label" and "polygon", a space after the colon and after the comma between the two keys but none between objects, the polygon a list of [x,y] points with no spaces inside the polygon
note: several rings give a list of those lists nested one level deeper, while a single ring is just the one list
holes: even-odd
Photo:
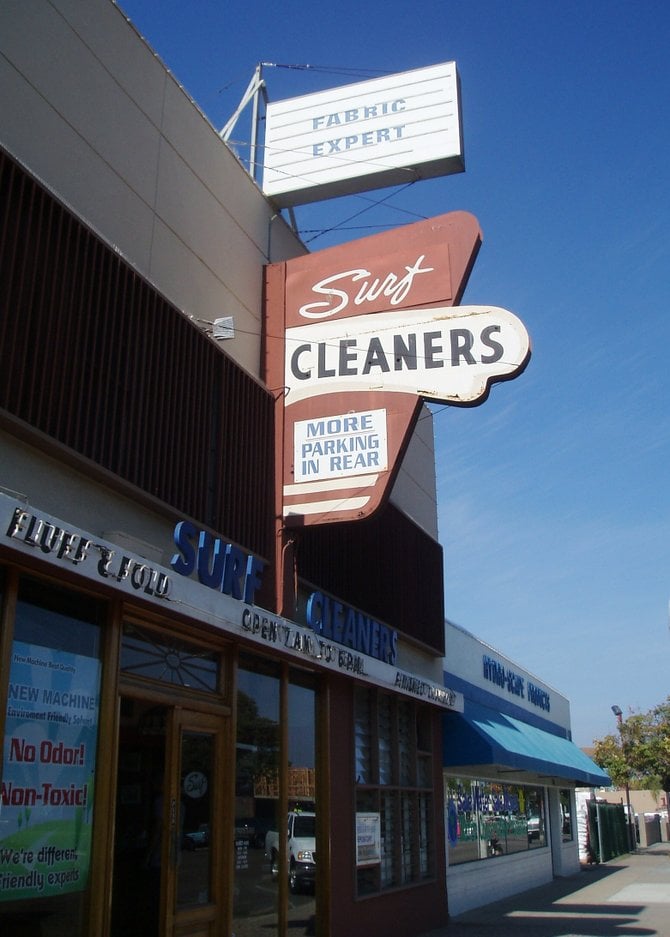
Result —
[{"label": "green leafy tree at the far right beyond the shops", "polygon": [[649,712],[620,720],[619,737],[606,735],[594,746],[594,761],[618,787],[661,788],[670,796],[670,696]]}]

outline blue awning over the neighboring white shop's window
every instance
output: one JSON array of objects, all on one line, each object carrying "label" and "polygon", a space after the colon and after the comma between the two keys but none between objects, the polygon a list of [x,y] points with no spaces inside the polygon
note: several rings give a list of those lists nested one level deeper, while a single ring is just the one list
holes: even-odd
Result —
[{"label": "blue awning over the neighboring white shop's window", "polygon": [[503,715],[487,706],[465,704],[465,713],[444,715],[445,768],[496,766],[576,781],[585,787],[609,787],[611,780],[580,748],[566,738]]}]

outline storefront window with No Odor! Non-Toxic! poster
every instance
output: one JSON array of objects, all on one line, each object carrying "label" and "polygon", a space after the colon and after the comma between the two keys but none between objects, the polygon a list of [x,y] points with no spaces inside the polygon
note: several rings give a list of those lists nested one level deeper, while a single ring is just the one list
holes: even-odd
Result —
[{"label": "storefront window with No Odor! Non-Toxic! poster", "polygon": [[104,604],[24,578],[14,620],[0,815],[0,929],[85,930]]}]

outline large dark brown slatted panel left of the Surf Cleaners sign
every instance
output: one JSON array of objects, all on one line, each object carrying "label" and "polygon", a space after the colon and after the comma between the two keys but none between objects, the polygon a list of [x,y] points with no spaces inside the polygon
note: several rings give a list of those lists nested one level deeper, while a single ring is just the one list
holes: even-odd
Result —
[{"label": "large dark brown slatted panel left of the Surf Cleaners sign", "polygon": [[0,407],[269,557],[271,395],[0,152]]}]

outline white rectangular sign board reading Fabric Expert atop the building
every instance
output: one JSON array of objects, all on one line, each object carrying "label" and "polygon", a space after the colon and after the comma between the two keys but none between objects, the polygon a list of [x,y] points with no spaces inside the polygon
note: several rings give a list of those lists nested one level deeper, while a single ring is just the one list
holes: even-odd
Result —
[{"label": "white rectangular sign board reading Fabric Expert atop the building", "polygon": [[456,63],[269,103],[263,163],[282,208],[463,172]]}]

